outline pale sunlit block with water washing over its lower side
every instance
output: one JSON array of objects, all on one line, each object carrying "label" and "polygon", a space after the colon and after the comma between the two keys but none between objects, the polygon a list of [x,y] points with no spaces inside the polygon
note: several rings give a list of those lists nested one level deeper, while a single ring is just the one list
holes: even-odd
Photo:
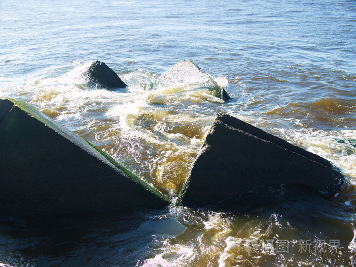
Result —
[{"label": "pale sunlit block with water washing over its lower side", "polygon": [[172,84],[191,83],[200,87],[208,87],[214,96],[227,101],[230,96],[209,74],[200,69],[193,61],[182,60],[168,69],[158,78],[159,84],[170,86]]}]

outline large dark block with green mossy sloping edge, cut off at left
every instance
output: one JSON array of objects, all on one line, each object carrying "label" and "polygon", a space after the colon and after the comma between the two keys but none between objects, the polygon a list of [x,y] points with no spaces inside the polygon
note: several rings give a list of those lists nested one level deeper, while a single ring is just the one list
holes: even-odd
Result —
[{"label": "large dark block with green mossy sloping edge, cut off at left", "polygon": [[162,207],[169,200],[30,105],[0,99],[0,214]]}]

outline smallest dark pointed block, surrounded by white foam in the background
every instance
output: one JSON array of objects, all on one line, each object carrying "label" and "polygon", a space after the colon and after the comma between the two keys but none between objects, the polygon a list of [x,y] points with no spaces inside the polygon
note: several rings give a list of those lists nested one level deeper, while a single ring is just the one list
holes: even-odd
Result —
[{"label": "smallest dark pointed block, surrounded by white foam in the background", "polygon": [[94,61],[82,72],[81,76],[95,87],[107,89],[127,87],[127,84],[112,69],[100,61]]}]

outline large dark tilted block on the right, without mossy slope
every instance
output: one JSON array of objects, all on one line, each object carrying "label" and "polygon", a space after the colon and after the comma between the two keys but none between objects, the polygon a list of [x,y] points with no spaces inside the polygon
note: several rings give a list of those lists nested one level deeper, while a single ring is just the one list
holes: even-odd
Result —
[{"label": "large dark tilted block on the right, without mossy slope", "polygon": [[334,193],[343,182],[344,176],[328,160],[238,118],[218,114],[179,202],[186,206],[213,204],[286,184]]}]

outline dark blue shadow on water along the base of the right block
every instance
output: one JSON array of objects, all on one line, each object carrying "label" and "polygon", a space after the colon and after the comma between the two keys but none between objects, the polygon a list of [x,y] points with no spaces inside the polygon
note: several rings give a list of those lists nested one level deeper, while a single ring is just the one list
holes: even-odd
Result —
[{"label": "dark blue shadow on water along the base of the right block", "polygon": [[281,185],[274,188],[263,187],[205,208],[260,216],[281,213],[286,219],[296,223],[306,223],[306,216],[315,217],[318,220],[325,217],[334,217],[342,221],[351,220],[350,213],[356,212],[353,206],[336,201],[333,195],[323,195],[297,184]]}]

